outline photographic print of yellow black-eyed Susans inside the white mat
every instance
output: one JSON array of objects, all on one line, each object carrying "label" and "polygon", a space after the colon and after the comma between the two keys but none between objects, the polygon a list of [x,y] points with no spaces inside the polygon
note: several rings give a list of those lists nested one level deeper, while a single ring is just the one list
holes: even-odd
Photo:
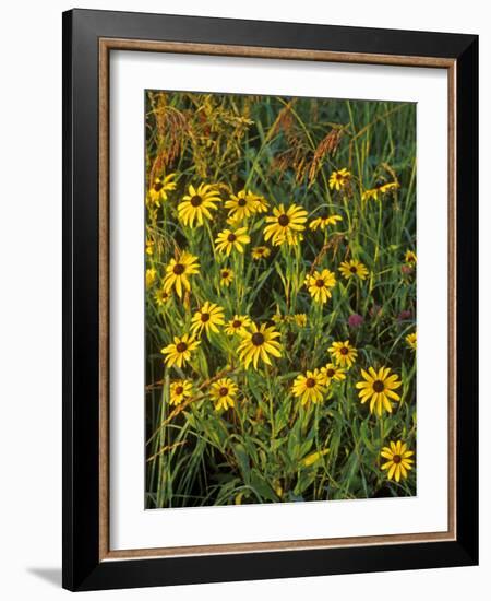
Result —
[{"label": "photographic print of yellow black-eyed Susans inside the white mat", "polygon": [[145,93],[145,507],[416,495],[416,104]]}]

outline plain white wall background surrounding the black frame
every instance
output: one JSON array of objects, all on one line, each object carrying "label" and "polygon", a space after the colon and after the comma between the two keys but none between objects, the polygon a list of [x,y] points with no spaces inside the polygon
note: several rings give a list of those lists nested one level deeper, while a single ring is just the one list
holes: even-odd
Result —
[{"label": "plain white wall background surrounding the black frame", "polygon": [[[61,566],[61,11],[62,0],[2,7],[0,36],[0,591],[3,599],[56,600]],[[491,20],[487,3],[447,0],[84,1],[83,8],[297,21],[480,34],[481,366],[491,360],[489,144]],[[487,201],[488,200],[488,201]],[[471,236],[472,233],[469,233]],[[486,279],[484,279],[486,278]],[[483,388],[483,387],[482,387]],[[491,484],[481,403],[481,566],[91,593],[92,599],[191,600],[395,597],[446,601],[491,585]]]}]

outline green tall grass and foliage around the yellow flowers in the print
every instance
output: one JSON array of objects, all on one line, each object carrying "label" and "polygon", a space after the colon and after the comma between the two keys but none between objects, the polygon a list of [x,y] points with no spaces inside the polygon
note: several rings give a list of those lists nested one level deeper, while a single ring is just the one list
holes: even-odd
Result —
[{"label": "green tall grass and foliage around the yellow flowers in the print", "polygon": [[[416,469],[399,482],[387,479],[381,450],[391,440],[416,448],[416,360],[406,342],[415,331],[416,108],[412,104],[273,96],[148,92],[147,186],[176,173],[177,187],[160,207],[147,210],[146,292],[146,506],[190,507],[246,503],[331,500],[416,494]],[[347,168],[343,190],[328,180]],[[214,238],[226,225],[223,203],[203,227],[184,227],[177,205],[190,184],[216,185],[223,200],[241,189],[263,196],[266,214],[248,222],[251,244],[225,260]],[[376,200],[363,192],[396,182]],[[343,217],[325,232],[303,232],[298,246],[264,245],[265,216],[279,203],[303,207],[310,223],[322,211]],[[308,224],[306,224],[308,225]],[[155,295],[179,249],[199,257],[191,293],[159,305]],[[362,280],[338,271],[355,258],[369,270]],[[312,264],[336,274],[332,298],[312,302],[303,285]],[[229,287],[219,271],[235,272]],[[191,317],[209,300],[226,319],[249,315],[280,332],[283,353],[273,365],[244,369],[238,341],[219,333],[201,337],[182,368],[164,365],[160,350],[189,332]],[[306,314],[307,325],[291,316]],[[350,316],[357,314],[362,321]],[[359,323],[361,321],[361,323]],[[351,325],[350,325],[351,323]],[[328,387],[321,403],[302,405],[295,378],[331,361],[333,341],[358,350],[344,381]],[[387,366],[402,379],[393,412],[371,413],[356,382],[361,368]],[[209,387],[226,375],[237,382],[235,406],[215,411]],[[169,385],[193,381],[190,401],[169,403]]]}]

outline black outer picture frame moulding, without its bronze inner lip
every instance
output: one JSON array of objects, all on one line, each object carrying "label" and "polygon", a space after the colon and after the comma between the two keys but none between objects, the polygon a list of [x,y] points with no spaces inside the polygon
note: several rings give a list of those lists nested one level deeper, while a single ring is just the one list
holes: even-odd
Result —
[{"label": "black outer picture frame moulding, without its bronze inner lip", "polygon": [[[456,538],[443,542],[101,561],[99,39],[455,61]],[[63,587],[96,590],[478,563],[478,37],[160,14],[63,13]]]}]

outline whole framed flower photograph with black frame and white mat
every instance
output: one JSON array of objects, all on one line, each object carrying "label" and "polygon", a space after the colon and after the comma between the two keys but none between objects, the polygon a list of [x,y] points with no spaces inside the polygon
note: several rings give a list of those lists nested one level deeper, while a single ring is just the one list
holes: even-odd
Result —
[{"label": "whole framed flower photograph with black frame and white mat", "polygon": [[63,586],[478,562],[478,38],[63,14]]}]

